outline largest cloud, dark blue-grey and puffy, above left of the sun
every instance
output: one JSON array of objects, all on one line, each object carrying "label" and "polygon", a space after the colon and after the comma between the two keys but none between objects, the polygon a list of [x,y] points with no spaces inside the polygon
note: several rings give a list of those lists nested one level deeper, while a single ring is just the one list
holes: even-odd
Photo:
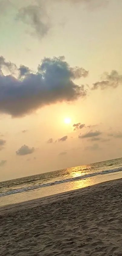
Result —
[{"label": "largest cloud, dark blue-grey and puffy, above left of the sun", "polygon": [[[72,69],[64,59],[64,56],[44,58],[36,73],[25,74],[21,79],[1,74],[0,112],[20,117],[45,105],[85,97],[84,85],[73,81],[77,69]],[[82,77],[85,71],[81,70]]]}]

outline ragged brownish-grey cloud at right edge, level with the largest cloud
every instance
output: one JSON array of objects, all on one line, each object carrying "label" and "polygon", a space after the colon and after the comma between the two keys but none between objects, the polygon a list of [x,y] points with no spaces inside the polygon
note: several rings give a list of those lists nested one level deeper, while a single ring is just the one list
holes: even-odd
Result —
[{"label": "ragged brownish-grey cloud at right edge, level with the largest cloud", "polygon": [[101,82],[96,82],[93,84],[92,90],[101,88],[104,90],[106,88],[117,88],[117,86],[122,84],[122,75],[119,75],[116,70],[112,70],[110,74],[104,73],[104,80]]}]

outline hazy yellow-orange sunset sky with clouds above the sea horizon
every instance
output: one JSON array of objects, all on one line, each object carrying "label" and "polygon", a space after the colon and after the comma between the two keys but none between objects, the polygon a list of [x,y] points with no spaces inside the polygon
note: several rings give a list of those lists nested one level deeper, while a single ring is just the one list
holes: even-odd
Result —
[{"label": "hazy yellow-orange sunset sky with clouds above the sea horizon", "polygon": [[0,0],[0,180],[122,157],[122,1]]}]

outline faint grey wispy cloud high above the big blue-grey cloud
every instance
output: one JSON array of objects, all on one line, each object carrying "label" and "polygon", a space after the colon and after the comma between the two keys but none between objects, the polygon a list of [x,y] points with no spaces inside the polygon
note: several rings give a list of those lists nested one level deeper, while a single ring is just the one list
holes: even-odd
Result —
[{"label": "faint grey wispy cloud high above the big blue-grey cloud", "polygon": [[17,19],[30,25],[39,38],[45,36],[50,28],[46,10],[40,4],[19,9]]}]

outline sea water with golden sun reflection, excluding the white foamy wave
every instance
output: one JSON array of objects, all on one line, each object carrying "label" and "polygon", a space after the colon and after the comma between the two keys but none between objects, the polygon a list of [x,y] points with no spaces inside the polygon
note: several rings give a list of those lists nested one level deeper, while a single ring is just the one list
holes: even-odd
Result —
[{"label": "sea water with golden sun reflection, excluding the white foamy wave", "polygon": [[122,178],[122,158],[0,182],[0,206]]}]

